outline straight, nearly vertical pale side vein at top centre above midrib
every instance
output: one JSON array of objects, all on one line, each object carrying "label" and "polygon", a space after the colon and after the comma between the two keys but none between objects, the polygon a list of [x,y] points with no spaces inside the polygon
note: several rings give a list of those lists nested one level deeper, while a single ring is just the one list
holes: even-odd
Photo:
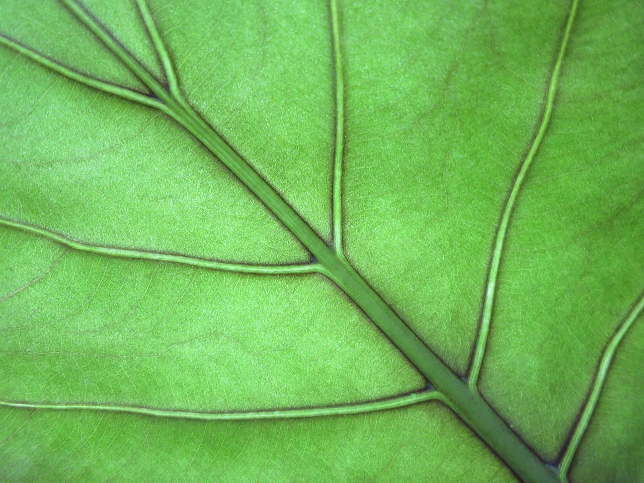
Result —
[{"label": "straight, nearly vertical pale side vein at top centre above midrib", "polygon": [[342,68],[340,23],[337,0],[330,0],[331,31],[336,91],[336,149],[333,165],[333,243],[338,254],[343,254],[342,237],[342,163],[345,150],[345,80]]}]

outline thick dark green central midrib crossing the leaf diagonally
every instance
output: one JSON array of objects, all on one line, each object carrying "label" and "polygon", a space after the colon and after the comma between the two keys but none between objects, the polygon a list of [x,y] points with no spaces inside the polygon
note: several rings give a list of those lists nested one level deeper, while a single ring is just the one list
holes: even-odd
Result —
[{"label": "thick dark green central midrib crossing the leaf diagonally", "polygon": [[409,361],[431,381],[446,404],[492,448],[526,483],[560,483],[545,462],[525,444],[484,399],[429,348],[348,263],[336,247],[328,245],[307,221],[261,177],[188,102],[176,99],[77,0],[61,0],[102,43],[113,52],[159,101],[156,108],[172,117],[198,139],[232,175],[236,176],[317,260],[317,270],[345,292]]}]

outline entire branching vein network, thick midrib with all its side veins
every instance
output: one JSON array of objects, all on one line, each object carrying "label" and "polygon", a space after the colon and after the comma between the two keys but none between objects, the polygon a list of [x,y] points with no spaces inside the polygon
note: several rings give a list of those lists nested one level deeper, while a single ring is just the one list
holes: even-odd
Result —
[{"label": "entire branching vein network, thick midrib with all its side veins", "polygon": [[[336,285],[343,290],[356,305],[362,308],[365,314],[374,321],[374,323],[383,330],[384,334],[394,343],[401,352],[415,365],[418,370],[427,377],[437,388],[420,393],[399,396],[383,401],[372,401],[370,403],[355,404],[350,406],[327,406],[324,408],[302,408],[294,410],[275,410],[245,413],[200,413],[184,412],[178,410],[162,410],[156,408],[140,408],[136,406],[109,406],[101,404],[47,404],[47,403],[19,403],[11,401],[0,401],[1,406],[10,406],[16,408],[48,409],[48,410],[101,410],[113,412],[140,413],[160,417],[177,417],[189,419],[204,420],[233,420],[233,419],[270,419],[281,417],[314,417],[323,415],[354,414],[370,411],[378,411],[392,408],[408,406],[410,404],[421,403],[435,399],[448,404],[466,424],[469,425],[489,446],[503,459],[506,464],[515,471],[518,477],[529,483],[558,483],[561,478],[556,475],[550,468],[545,466],[544,462],[531,451],[531,449],[520,440],[516,434],[503,422],[492,408],[478,395],[477,381],[484,352],[488,338],[489,325],[493,312],[495,289],[497,285],[498,270],[500,267],[501,254],[504,247],[507,230],[511,214],[515,207],[516,199],[520,193],[522,184],[526,178],[527,171],[535,159],[540,143],[545,136],[545,131],[551,119],[554,108],[554,97],[556,95],[556,86],[560,77],[562,62],[565,55],[565,49],[571,33],[574,15],[578,6],[578,0],[573,0],[571,12],[565,26],[564,38],[560,45],[558,57],[555,62],[551,81],[547,92],[544,113],[542,121],[535,136],[535,140],[524,160],[520,171],[512,187],[508,202],[504,208],[502,218],[495,240],[493,258],[486,287],[484,310],[482,314],[481,330],[475,348],[475,357],[471,366],[469,384],[464,383],[460,377],[455,375],[451,369],[440,361],[437,355],[424,344],[419,337],[404,323],[400,317],[386,304],[386,302],[377,294],[358,272],[348,263],[342,252],[342,211],[341,211],[341,174],[342,174],[342,151],[343,151],[343,70],[342,57],[340,49],[339,19],[337,15],[336,0],[330,0],[331,10],[331,28],[332,28],[332,46],[334,52],[335,67],[335,89],[336,89],[336,153],[334,156],[334,210],[333,210],[333,232],[334,244],[327,245],[312,228],[299,216],[299,214],[277,193],[272,186],[267,183],[254,170],[254,168],[240,156],[234,149],[223,140],[211,126],[205,122],[191,108],[189,103],[184,99],[178,85],[175,69],[170,61],[167,50],[162,43],[158,34],[153,17],[147,8],[145,0],[135,0],[141,12],[147,32],[152,43],[161,59],[164,73],[166,75],[168,87],[162,85],[162,82],[155,79],[146,68],[138,62],[127,50],[125,50],[104,28],[95,21],[95,19],[78,3],[76,0],[61,0],[73,14],[81,21],[91,32],[93,32],[102,43],[114,53],[120,61],[125,64],[153,93],[145,95],[136,91],[115,86],[108,82],[93,79],[88,75],[77,73],[75,71],[58,64],[52,59],[27,48],[13,39],[0,35],[0,44],[12,48],[16,52],[38,62],[42,66],[56,71],[74,81],[81,82],[90,88],[104,91],[111,95],[117,95],[132,102],[138,102],[151,108],[159,109],[172,117],[178,124],[183,126],[187,131],[194,135],[204,146],[213,153],[252,193],[254,193],[267,206],[267,208],[276,215],[276,217],[289,229],[298,240],[307,247],[312,256],[317,260],[314,264],[308,265],[281,265],[265,267],[261,265],[243,265],[235,263],[223,263],[213,260],[201,260],[187,256],[174,254],[160,254],[154,252],[135,251],[129,249],[119,249],[111,247],[100,247],[88,243],[71,240],[61,234],[48,231],[43,228],[33,227],[26,223],[16,222],[14,220],[1,219],[0,224],[21,229],[23,231],[39,234],[50,240],[61,243],[79,251],[95,252],[109,256],[118,256],[123,258],[139,258],[144,260],[171,261],[175,263],[184,263],[198,267],[228,270],[231,272],[247,273],[308,273],[318,272],[325,274],[332,279]],[[616,336],[609,345],[609,350],[605,352],[601,359],[600,372],[596,377],[592,389],[589,403],[584,409],[582,421],[574,432],[571,445],[565,453],[562,460],[561,471],[564,475],[574,456],[574,452],[581,440],[585,428],[591,418],[592,412],[596,406],[605,374],[611,363],[612,357],[617,346],[620,344],[624,334],[629,330],[633,321],[638,317],[644,308],[644,298],[640,299],[631,316],[620,328]]]}]

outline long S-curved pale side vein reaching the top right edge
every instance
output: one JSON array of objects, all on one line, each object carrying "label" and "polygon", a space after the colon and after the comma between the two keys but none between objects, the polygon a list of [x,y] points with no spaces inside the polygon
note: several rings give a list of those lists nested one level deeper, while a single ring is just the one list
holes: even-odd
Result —
[{"label": "long S-curved pale side vein reaching the top right edge", "polygon": [[541,122],[539,124],[535,138],[526,155],[526,158],[521,164],[518,174],[516,175],[512,189],[507,196],[506,205],[503,209],[501,220],[498,223],[497,236],[494,242],[492,259],[489,265],[488,280],[485,287],[483,310],[481,314],[480,325],[478,328],[477,343],[474,350],[474,357],[469,368],[469,386],[474,391],[478,391],[478,377],[480,375],[486,346],[488,344],[489,327],[492,320],[494,299],[497,291],[498,271],[501,265],[501,256],[506,241],[510,218],[515,209],[516,200],[518,200],[521,188],[523,187],[526,180],[527,173],[530,169],[531,164],[535,160],[536,153],[539,150],[539,146],[541,145],[542,140],[544,140],[545,131],[547,131],[550,120],[552,118],[554,99],[557,93],[557,84],[561,75],[562,64],[564,63],[568,41],[570,39],[571,31],[573,30],[574,16],[576,14],[578,4],[579,0],[573,0],[573,4],[571,5],[570,13],[565,24],[564,35],[562,36],[559,52],[556,57],[556,61],[554,62],[553,73],[548,84]]}]

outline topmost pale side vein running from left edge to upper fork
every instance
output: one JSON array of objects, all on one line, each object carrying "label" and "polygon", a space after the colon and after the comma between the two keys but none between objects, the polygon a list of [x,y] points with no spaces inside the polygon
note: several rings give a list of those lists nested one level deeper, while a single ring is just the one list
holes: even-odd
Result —
[{"label": "topmost pale side vein running from left edge to upper fork", "polygon": [[71,70],[70,68],[67,68],[55,61],[52,61],[52,59],[45,57],[44,55],[36,52],[35,50],[32,50],[28,47],[25,47],[15,42],[14,40],[10,39],[9,37],[6,37],[5,35],[0,34],[0,44],[3,44],[11,48],[12,50],[15,50],[15,52],[18,52],[21,55],[24,55],[24,57],[28,57],[28,59],[31,59],[32,61],[35,61],[38,64],[41,64],[41,66],[48,68],[49,70],[52,70],[56,73],[64,75],[65,77],[68,77],[68,79],[71,79],[73,81],[81,82],[81,84],[85,84],[86,86],[91,87],[93,89],[103,91],[109,94],[117,95],[118,97],[122,97],[123,99],[132,100],[134,102],[138,102],[138,104],[144,104],[145,106],[150,106],[157,109],[162,108],[162,104],[158,102],[158,100],[153,99],[152,97],[147,97],[146,95],[143,95],[136,91],[132,91],[124,87],[116,86],[114,84],[110,84],[109,82],[99,81],[99,79],[94,79],[93,77],[90,77],[88,75]]}]

